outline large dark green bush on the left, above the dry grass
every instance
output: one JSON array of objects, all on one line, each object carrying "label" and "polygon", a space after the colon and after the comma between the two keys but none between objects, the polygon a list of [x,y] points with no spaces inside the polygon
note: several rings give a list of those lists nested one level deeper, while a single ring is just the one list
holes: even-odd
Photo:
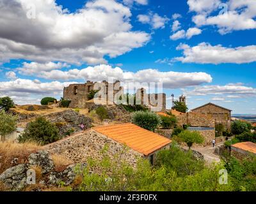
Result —
[{"label": "large dark green bush on the left, above the dry grass", "polygon": [[24,133],[19,136],[19,142],[38,142],[47,145],[60,140],[58,128],[44,117],[38,117],[29,122]]}]

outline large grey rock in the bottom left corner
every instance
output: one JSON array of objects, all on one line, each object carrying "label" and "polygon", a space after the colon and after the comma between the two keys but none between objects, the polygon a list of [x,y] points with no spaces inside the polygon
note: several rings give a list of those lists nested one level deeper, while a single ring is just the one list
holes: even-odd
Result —
[{"label": "large grey rock in the bottom left corner", "polygon": [[17,166],[8,168],[6,171],[1,173],[0,181],[4,183],[7,189],[20,191],[26,187],[27,170],[27,164],[19,164]]}]

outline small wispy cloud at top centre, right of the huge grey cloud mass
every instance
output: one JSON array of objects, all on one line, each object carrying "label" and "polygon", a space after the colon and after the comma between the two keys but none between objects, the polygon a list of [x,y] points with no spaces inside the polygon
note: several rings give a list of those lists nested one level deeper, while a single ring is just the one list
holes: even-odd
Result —
[{"label": "small wispy cloud at top centre, right of the huge grey cloud mass", "polygon": [[166,16],[159,16],[157,13],[138,15],[137,18],[142,24],[150,24],[152,29],[163,29],[165,27],[165,24],[170,20]]}]

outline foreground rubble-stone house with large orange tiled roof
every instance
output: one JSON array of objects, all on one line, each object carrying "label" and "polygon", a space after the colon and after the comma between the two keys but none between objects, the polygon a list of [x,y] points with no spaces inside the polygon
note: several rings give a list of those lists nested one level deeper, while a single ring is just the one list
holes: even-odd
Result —
[{"label": "foreground rubble-stone house with large orange tiled roof", "polygon": [[[138,158],[145,158],[154,164],[156,153],[169,149],[172,141],[131,123],[114,124],[92,128],[70,136],[44,148],[53,154],[61,154],[74,163],[86,163],[89,157],[102,158],[102,149],[107,145],[108,155],[122,154],[123,159],[136,166]],[[124,151],[128,148],[127,151]]]}]

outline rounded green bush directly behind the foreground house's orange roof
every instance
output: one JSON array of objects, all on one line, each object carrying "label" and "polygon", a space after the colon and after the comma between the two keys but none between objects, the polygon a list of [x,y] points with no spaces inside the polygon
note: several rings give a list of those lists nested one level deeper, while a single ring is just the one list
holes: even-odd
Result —
[{"label": "rounded green bush directly behind the foreground house's orange roof", "polygon": [[139,111],[132,114],[132,123],[154,131],[161,124],[161,118],[156,113]]}]

